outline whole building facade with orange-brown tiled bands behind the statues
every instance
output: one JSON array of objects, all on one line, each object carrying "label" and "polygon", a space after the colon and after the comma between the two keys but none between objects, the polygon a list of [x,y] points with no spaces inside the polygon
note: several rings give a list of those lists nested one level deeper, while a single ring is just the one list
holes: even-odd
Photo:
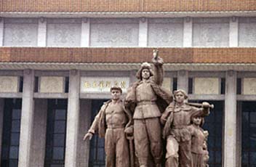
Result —
[{"label": "whole building facade with orange-brown tiled bands behind the statues", "polygon": [[256,2],[0,1],[0,166],[105,166],[82,141],[153,49],[164,87],[215,109],[210,166],[256,166]]}]

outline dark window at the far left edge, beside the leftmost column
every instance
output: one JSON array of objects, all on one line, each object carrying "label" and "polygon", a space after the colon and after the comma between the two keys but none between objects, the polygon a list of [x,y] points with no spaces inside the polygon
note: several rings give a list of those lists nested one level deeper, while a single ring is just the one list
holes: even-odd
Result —
[{"label": "dark window at the far left edge, beside the leftmost column", "polygon": [[1,147],[1,166],[16,167],[20,145],[21,99],[4,100],[4,129]]}]

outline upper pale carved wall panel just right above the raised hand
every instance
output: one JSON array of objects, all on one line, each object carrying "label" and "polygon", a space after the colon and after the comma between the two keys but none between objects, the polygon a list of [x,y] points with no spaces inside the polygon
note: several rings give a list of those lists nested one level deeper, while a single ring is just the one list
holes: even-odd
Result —
[{"label": "upper pale carved wall panel just right above the raised hand", "polygon": [[183,19],[149,19],[148,46],[183,46]]}]

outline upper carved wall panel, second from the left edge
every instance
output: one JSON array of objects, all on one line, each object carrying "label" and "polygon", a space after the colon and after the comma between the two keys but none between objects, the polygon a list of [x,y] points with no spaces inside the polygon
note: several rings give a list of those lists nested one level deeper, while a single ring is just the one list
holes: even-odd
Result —
[{"label": "upper carved wall panel, second from the left edge", "polygon": [[80,46],[81,20],[47,20],[47,46]]}]

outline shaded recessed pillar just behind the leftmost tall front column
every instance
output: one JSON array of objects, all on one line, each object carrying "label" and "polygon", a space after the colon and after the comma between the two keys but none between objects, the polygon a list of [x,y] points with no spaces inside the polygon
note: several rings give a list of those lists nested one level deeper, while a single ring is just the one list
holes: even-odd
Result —
[{"label": "shaded recessed pillar just behind the leftmost tall front column", "polygon": [[35,99],[30,166],[44,166],[47,134],[47,99]]}]

